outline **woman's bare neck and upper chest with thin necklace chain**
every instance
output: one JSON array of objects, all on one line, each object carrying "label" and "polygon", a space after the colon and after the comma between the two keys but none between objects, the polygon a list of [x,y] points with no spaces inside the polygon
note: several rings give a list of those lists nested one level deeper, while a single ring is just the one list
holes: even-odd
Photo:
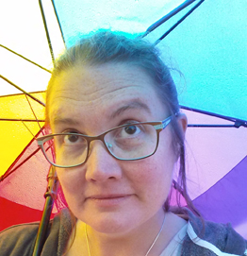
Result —
[{"label": "woman's bare neck and upper chest with thin necklace chain", "polygon": [[[87,226],[91,256],[145,256],[162,227],[163,219],[164,213],[158,218],[154,217],[154,219],[150,219],[143,223],[137,229],[124,234],[100,233],[93,230],[90,226]],[[164,228],[160,232],[160,235],[158,236],[154,247],[152,247],[148,253],[148,256],[160,255],[173,238],[173,235],[180,230],[184,224],[184,221],[176,215],[173,215],[173,213],[166,213]],[[83,252],[83,255],[90,255],[86,244],[86,235],[84,230],[85,223],[78,221],[73,247],[76,247],[76,250],[80,251],[80,253]],[[81,243],[81,241],[83,241],[83,243]],[[78,249],[78,247],[80,248]],[[72,253],[70,255],[76,254]]]}]

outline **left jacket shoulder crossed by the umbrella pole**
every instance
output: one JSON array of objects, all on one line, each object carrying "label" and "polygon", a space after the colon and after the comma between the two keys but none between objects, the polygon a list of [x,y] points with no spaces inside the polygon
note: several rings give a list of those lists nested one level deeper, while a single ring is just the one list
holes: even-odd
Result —
[{"label": "left jacket shoulder crossed by the umbrella pole", "polygon": [[[58,213],[49,222],[47,239],[41,255],[55,255],[57,251],[66,247],[66,240],[71,230],[71,221],[68,211]],[[0,232],[0,256],[27,256],[32,255],[39,222],[12,226]]]}]

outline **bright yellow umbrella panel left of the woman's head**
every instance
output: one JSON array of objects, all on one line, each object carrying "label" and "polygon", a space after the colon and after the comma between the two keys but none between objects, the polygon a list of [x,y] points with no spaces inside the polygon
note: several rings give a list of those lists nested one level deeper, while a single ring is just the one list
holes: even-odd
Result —
[{"label": "bright yellow umbrella panel left of the woman's head", "polygon": [[[44,102],[45,93],[32,95]],[[0,97],[1,176],[40,131],[43,120],[44,106],[25,94]]]}]

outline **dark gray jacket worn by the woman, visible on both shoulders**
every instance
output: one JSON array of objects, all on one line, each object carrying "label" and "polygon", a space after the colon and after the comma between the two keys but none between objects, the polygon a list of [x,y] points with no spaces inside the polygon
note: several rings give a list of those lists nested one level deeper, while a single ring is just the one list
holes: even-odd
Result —
[{"label": "dark gray jacket worn by the woman, visible on both shoulders", "polygon": [[[31,256],[38,228],[39,223],[29,223],[13,226],[0,232],[0,256]],[[70,213],[68,210],[63,210],[50,222],[41,256],[61,256],[71,230]],[[203,228],[202,221],[189,212],[189,225],[181,256],[198,255],[247,255],[247,241],[230,225],[205,222]]]}]

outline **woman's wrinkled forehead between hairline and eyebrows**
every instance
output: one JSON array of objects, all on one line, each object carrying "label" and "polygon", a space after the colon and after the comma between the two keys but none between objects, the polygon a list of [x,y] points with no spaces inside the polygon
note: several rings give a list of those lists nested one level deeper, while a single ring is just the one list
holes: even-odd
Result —
[{"label": "woman's wrinkled forehead between hairline and eyebrows", "polygon": [[55,78],[51,94],[59,96],[77,92],[77,96],[94,97],[97,94],[114,93],[127,89],[146,89],[153,91],[153,79],[140,67],[126,63],[107,63],[98,66],[77,64],[63,71]]}]

